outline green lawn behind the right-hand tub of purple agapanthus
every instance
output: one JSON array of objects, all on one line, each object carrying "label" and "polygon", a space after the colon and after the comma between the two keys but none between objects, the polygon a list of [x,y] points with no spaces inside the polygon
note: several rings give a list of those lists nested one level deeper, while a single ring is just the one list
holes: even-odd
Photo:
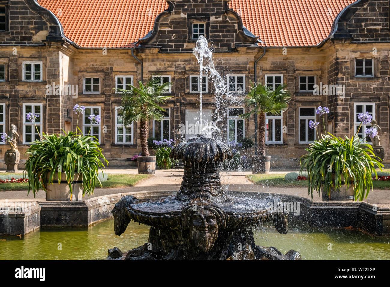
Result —
[{"label": "green lawn behind the right-hand tub of purple agapanthus", "polygon": [[[383,171],[390,172],[390,169],[383,169]],[[307,180],[284,180],[286,174],[257,174],[247,175],[246,177],[254,182],[254,184],[274,187],[307,187]],[[390,189],[390,181],[374,180],[372,182],[374,189]]]}]

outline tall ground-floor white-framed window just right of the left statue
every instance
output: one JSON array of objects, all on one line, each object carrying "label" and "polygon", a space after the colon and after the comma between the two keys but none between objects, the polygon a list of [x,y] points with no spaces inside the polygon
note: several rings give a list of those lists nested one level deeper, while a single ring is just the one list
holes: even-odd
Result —
[{"label": "tall ground-floor white-framed window just right of the left statue", "polygon": [[[35,113],[37,119],[34,123],[27,120],[28,113]],[[36,126],[36,127],[35,127]],[[42,104],[23,103],[23,144],[30,144],[42,137]]]}]

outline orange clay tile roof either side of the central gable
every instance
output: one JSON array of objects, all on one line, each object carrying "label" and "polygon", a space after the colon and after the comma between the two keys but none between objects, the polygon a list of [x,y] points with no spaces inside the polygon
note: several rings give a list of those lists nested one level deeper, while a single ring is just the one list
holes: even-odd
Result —
[{"label": "orange clay tile roof either side of the central gable", "polygon": [[[337,14],[355,0],[231,0],[243,25],[266,46],[317,45]],[[38,0],[82,47],[133,47],[168,9],[165,0]]]}]

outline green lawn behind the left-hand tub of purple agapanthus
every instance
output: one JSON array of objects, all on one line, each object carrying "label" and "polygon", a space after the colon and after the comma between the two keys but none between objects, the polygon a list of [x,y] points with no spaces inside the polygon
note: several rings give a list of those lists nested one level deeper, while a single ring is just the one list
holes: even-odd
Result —
[{"label": "green lawn behind the left-hand tub of purple agapanthus", "polygon": [[[7,173],[11,178],[21,178],[23,177],[22,173],[10,174]],[[0,174],[0,178],[4,179],[4,173]],[[108,179],[105,182],[102,182],[103,188],[121,188],[121,187],[130,187],[136,185],[141,180],[148,178],[148,175],[132,175],[132,174],[119,174],[119,173],[108,173]],[[96,188],[100,188],[99,185]],[[9,190],[28,190],[28,183],[0,183],[0,191],[9,191]]]}]

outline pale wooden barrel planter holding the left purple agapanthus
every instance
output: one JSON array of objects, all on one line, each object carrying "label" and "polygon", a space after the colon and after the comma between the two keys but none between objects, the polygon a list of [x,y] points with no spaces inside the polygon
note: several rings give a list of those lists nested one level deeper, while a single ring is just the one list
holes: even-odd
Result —
[{"label": "pale wooden barrel planter holding the left purple agapanthus", "polygon": [[[66,174],[61,173],[61,181],[58,184],[58,174],[55,173],[53,176],[53,184],[49,183],[48,173],[46,179],[46,200],[58,200],[66,201],[71,200],[71,190],[69,184],[66,181]],[[80,201],[83,197],[83,175],[81,173],[75,173],[72,181],[72,201]]]}]

